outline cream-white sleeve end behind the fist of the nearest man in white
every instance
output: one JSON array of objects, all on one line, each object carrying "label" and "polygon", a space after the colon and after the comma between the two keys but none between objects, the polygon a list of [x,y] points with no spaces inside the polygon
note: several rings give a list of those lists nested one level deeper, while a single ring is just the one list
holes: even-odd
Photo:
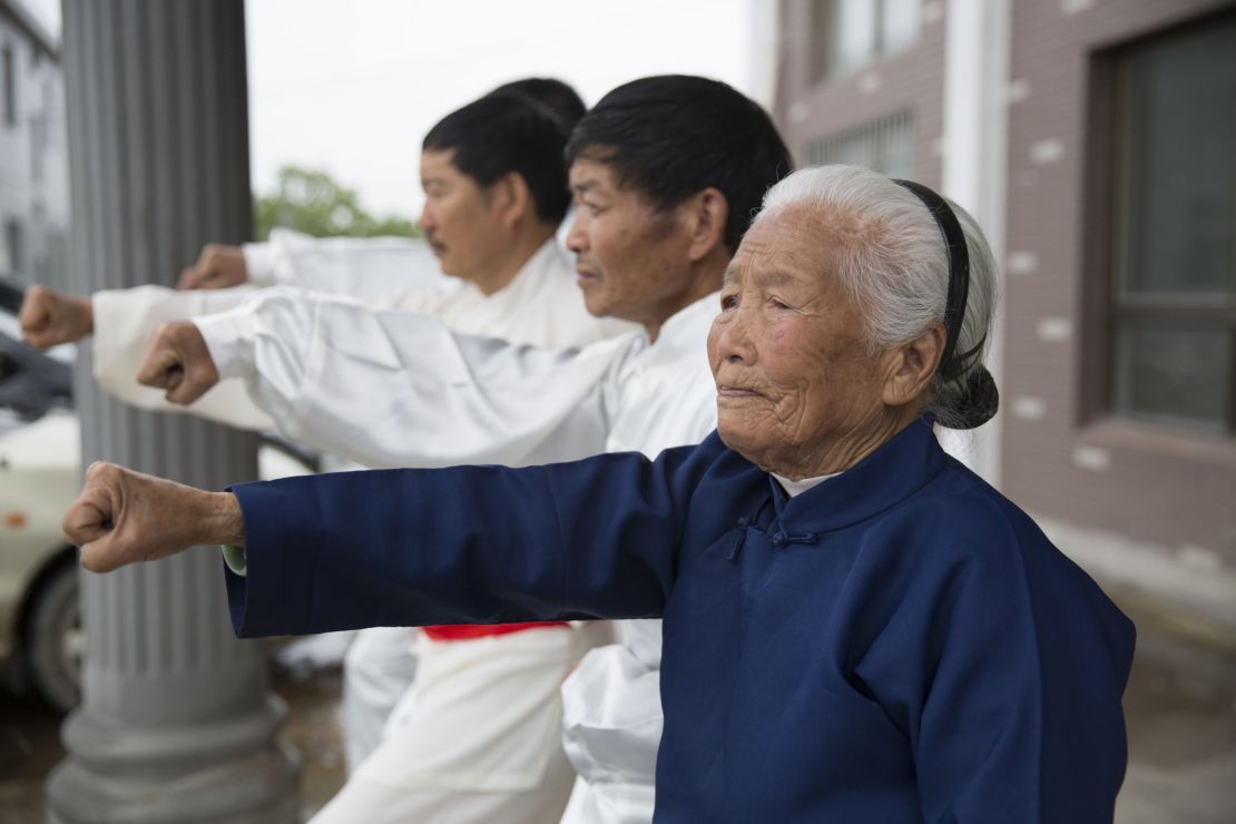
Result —
[{"label": "cream-white sleeve end behind the fist of the nearest man in white", "polygon": [[[159,325],[231,309],[253,294],[251,287],[178,292],[137,287],[96,292],[94,309],[94,379],[99,388],[127,404],[154,411],[189,411],[171,404],[163,390],[137,383],[137,367]],[[250,399],[240,380],[224,380],[193,405],[201,418],[240,429],[269,430],[274,423]]]}]

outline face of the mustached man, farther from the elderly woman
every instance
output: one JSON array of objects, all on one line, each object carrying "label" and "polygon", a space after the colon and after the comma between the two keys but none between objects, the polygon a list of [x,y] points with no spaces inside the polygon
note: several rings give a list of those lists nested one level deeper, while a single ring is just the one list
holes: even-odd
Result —
[{"label": "face of the mustached man, farther from the elderly woman", "polygon": [[488,273],[504,232],[489,194],[455,168],[454,156],[454,149],[420,153],[419,222],[442,272],[473,280]]}]

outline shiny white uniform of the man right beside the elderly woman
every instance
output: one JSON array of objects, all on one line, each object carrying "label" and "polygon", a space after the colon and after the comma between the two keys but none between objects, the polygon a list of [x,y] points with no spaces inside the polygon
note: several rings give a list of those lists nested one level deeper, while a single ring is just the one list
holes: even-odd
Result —
[{"label": "shiny white uniform of the man right beside the elderly woman", "polygon": [[[705,342],[717,308],[714,295],[687,306],[653,345],[634,334],[580,351],[277,292],[197,322],[220,374],[245,379],[292,439],[371,465],[524,465],[701,440],[716,425]],[[623,623],[620,640],[564,686],[580,773],[566,820],[651,819],[659,624]]]}]

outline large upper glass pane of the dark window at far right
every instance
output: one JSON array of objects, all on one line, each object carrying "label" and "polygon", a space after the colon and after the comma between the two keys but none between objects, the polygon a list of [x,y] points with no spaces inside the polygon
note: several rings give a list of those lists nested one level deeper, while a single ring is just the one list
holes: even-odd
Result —
[{"label": "large upper glass pane of the dark window at far right", "polygon": [[1124,88],[1124,294],[1231,294],[1236,22],[1130,52]]}]

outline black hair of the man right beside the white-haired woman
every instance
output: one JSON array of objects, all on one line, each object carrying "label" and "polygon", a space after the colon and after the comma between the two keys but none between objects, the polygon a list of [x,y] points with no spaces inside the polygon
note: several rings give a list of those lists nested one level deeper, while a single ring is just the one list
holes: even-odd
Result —
[{"label": "black hair of the man right beside the white-haired woman", "polygon": [[596,161],[660,209],[714,187],[726,195],[726,246],[738,248],[764,193],[792,170],[768,112],[717,80],[669,74],[620,85],[571,132],[566,161]]}]

